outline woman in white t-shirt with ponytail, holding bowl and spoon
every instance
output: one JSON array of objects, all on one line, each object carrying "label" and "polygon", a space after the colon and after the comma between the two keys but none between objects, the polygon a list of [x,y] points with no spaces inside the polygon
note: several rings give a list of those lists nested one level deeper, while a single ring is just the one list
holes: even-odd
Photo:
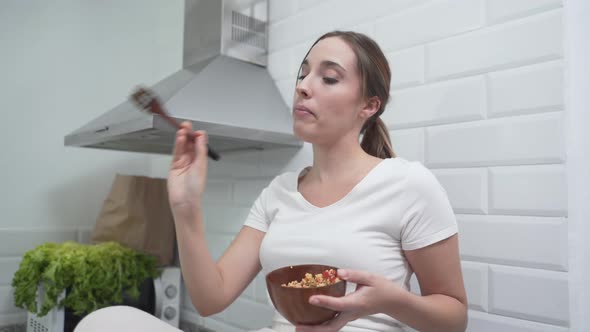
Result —
[{"label": "woman in white t-shirt with ponytail, holding bowl and spoon", "polygon": [[[313,164],[277,176],[216,263],[205,243],[201,196],[206,134],[184,123],[168,178],[184,282],[197,311],[228,307],[262,270],[319,263],[356,284],[312,304],[342,311],[296,331],[464,331],[467,301],[457,225],[446,194],[422,165],[395,158],[379,116],[390,70],[377,44],[354,32],[320,37],[301,64],[295,135],[313,145]],[[362,142],[359,137],[363,135]],[[212,221],[214,222],[214,221]],[[421,296],[409,289],[416,274]],[[273,329],[294,328],[276,315]]]}]

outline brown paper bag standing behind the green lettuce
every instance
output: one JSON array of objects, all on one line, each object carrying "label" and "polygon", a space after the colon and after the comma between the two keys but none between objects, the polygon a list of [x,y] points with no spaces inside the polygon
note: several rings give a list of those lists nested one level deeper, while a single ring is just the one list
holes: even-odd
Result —
[{"label": "brown paper bag standing behind the green lettuce", "polygon": [[166,179],[117,174],[91,241],[116,241],[171,265],[175,231]]}]

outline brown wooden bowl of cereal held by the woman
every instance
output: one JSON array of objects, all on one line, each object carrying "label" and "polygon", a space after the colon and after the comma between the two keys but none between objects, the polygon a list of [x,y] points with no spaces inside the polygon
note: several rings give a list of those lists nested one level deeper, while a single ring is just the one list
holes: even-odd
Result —
[{"label": "brown wooden bowl of cereal held by the woman", "polygon": [[338,268],[328,265],[294,265],[276,269],[266,275],[266,288],[272,304],[293,325],[317,325],[334,318],[338,311],[318,307],[309,303],[312,295],[341,297],[346,293],[346,281],[315,288],[283,287],[293,280],[300,281],[305,273],[318,274]]}]

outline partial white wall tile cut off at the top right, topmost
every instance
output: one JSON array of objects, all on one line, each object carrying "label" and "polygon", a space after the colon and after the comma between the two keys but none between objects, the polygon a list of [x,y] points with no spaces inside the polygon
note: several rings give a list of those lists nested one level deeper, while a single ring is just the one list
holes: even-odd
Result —
[{"label": "partial white wall tile cut off at the top right, topmost", "polygon": [[487,0],[488,21],[497,23],[558,8],[562,0]]}]

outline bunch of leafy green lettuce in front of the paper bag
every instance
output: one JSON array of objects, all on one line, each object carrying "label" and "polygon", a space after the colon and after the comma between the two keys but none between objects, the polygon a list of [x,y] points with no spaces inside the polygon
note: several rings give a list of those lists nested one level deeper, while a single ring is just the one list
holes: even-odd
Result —
[{"label": "bunch of leafy green lettuce in front of the paper bag", "polygon": [[[83,315],[122,303],[123,294],[137,299],[141,283],[160,273],[155,257],[117,242],[45,243],[23,256],[12,279],[14,303],[40,317],[56,306]],[[40,285],[42,304],[37,308]],[[66,296],[58,303],[64,290]]]}]

